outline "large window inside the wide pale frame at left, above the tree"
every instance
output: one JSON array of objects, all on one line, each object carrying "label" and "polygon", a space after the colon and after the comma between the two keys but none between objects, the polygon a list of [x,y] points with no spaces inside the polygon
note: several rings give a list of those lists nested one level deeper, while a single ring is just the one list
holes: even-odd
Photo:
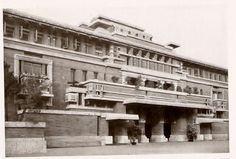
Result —
[{"label": "large window inside the wide pale frame at left, above the tree", "polygon": [[20,61],[20,74],[22,73],[36,76],[47,75],[47,65],[29,61]]}]

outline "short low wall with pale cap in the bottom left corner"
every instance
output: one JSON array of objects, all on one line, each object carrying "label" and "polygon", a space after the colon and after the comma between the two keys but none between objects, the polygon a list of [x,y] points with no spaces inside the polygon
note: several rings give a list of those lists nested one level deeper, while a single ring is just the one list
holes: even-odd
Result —
[{"label": "short low wall with pale cap in the bottom left corner", "polygon": [[46,153],[45,122],[5,122],[6,156]]}]

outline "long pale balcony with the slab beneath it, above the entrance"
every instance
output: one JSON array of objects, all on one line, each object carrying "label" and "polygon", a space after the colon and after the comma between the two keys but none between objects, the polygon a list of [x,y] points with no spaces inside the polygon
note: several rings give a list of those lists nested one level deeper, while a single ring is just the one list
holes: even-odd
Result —
[{"label": "long pale balcony with the slab beneath it, above the entrance", "polygon": [[139,87],[110,83],[98,80],[89,80],[82,85],[87,87],[85,99],[120,101],[124,104],[151,104],[188,108],[211,109],[210,97],[189,95],[185,92],[177,92],[163,89]]}]

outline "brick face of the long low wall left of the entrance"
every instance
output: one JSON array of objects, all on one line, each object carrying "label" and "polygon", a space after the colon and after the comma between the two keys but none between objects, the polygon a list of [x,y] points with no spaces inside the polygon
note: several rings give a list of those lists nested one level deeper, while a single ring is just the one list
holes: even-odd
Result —
[{"label": "brick face of the long low wall left of the entrance", "polygon": [[24,120],[46,122],[45,136],[97,136],[97,116],[27,113]]}]

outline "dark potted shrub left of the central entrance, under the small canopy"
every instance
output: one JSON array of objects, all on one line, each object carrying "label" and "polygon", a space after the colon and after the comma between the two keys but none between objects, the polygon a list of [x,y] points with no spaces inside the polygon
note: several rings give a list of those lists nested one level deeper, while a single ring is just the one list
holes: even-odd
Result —
[{"label": "dark potted shrub left of the central entrance, under the small canopy", "polygon": [[141,129],[134,122],[128,125],[128,137],[132,145],[137,144],[138,137],[141,135]]}]

